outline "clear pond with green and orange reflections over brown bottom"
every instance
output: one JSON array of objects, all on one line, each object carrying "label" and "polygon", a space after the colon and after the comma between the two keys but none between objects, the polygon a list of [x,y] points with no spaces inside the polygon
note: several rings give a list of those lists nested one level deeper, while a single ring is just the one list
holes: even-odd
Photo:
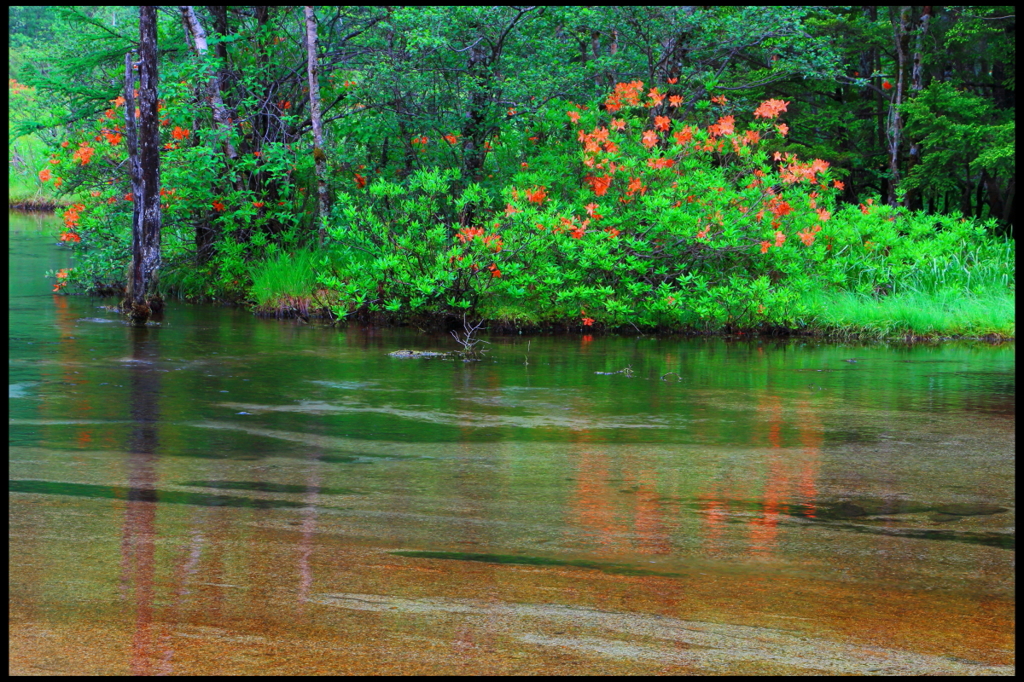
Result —
[{"label": "clear pond with green and orange reflections over brown bottom", "polygon": [[139,330],[10,225],[11,673],[1014,674],[1012,344]]}]

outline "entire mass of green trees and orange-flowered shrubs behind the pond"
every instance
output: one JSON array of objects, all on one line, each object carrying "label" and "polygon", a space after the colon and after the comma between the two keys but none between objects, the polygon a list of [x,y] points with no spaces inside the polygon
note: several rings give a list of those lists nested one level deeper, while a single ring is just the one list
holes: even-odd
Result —
[{"label": "entire mass of green trees and orange-flowered shrubs behind the pond", "polygon": [[[166,293],[323,296],[399,323],[715,330],[814,324],[827,296],[938,295],[927,278],[955,282],[942,292],[1013,280],[983,262],[996,224],[959,215],[1005,229],[1012,214],[998,9],[939,8],[911,46],[945,52],[926,49],[921,89],[904,88],[894,208],[877,203],[894,182],[887,11],[321,7],[333,208],[316,251],[301,11],[197,11],[203,55],[172,13],[160,25]],[[66,281],[123,283],[117,97],[135,13],[19,10],[13,26],[12,73],[35,89],[11,95],[12,183],[75,202]],[[62,38],[39,47],[47,32]],[[787,102],[792,134],[752,117],[766,99]]]}]

